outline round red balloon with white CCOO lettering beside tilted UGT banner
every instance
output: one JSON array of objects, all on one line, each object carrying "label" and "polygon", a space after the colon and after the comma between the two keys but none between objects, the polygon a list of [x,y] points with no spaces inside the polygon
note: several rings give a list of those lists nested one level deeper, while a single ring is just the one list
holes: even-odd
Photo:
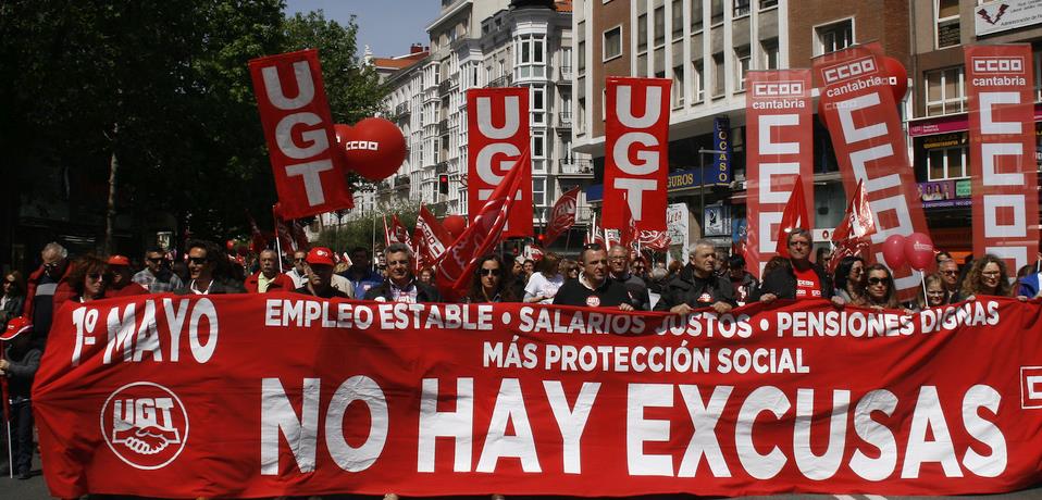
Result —
[{"label": "round red balloon with white CCOO lettering beside tilted UGT banner", "polygon": [[[336,126],[334,126],[336,130]],[[370,180],[381,180],[398,172],[406,159],[406,138],[398,127],[384,118],[365,118],[337,132],[347,167]]]}]

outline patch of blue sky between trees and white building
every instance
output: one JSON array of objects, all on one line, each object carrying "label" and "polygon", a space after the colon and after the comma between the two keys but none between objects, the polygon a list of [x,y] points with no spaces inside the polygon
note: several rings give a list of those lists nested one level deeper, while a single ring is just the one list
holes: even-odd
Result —
[{"label": "patch of blue sky between trees and white building", "polygon": [[356,15],[359,55],[369,45],[376,57],[406,54],[414,42],[430,45],[424,28],[439,7],[439,0],[286,0],[290,15],[322,10],[340,24]]}]

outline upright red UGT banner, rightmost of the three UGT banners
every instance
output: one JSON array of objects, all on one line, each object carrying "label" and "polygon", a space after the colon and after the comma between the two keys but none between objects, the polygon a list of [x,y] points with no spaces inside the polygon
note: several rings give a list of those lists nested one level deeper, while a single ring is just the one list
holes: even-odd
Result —
[{"label": "upright red UGT banner, rightmost of the three UGT banners", "polygon": [[601,226],[622,228],[629,203],[638,230],[666,230],[669,89],[666,78],[609,76]]}]

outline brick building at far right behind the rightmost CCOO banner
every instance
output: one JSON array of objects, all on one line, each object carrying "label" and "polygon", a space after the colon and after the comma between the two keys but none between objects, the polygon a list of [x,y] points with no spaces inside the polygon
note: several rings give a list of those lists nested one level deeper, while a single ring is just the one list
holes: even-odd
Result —
[{"label": "brick building at far right behind the rightmost CCOO banner", "polygon": [[[1035,15],[1022,15],[1031,5],[1035,5]],[[963,48],[970,43],[1031,43],[1035,138],[1042,145],[1042,18],[1037,2],[1027,0],[915,0],[909,11],[914,58],[908,76],[915,83],[909,90],[913,116],[908,136],[923,212],[938,247],[968,253],[972,250],[967,226],[971,210],[969,110]],[[1042,146],[1037,146],[1035,158],[1042,165]]]}]

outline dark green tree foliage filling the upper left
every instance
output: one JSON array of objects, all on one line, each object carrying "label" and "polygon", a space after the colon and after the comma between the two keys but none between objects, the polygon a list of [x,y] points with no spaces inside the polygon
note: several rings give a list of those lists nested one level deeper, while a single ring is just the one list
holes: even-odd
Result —
[{"label": "dark green tree foliage filling the upper left", "polygon": [[[338,123],[371,115],[383,97],[355,53],[353,22],[284,10],[281,0],[0,0],[0,148],[13,180],[2,193],[58,196],[39,173],[65,172],[70,210],[103,212],[97,187],[115,154],[116,209],[134,227],[169,213],[197,236],[226,238],[248,233],[247,211],[270,227],[276,199],[248,61],[318,48]],[[16,211],[7,200],[2,210]]]}]

